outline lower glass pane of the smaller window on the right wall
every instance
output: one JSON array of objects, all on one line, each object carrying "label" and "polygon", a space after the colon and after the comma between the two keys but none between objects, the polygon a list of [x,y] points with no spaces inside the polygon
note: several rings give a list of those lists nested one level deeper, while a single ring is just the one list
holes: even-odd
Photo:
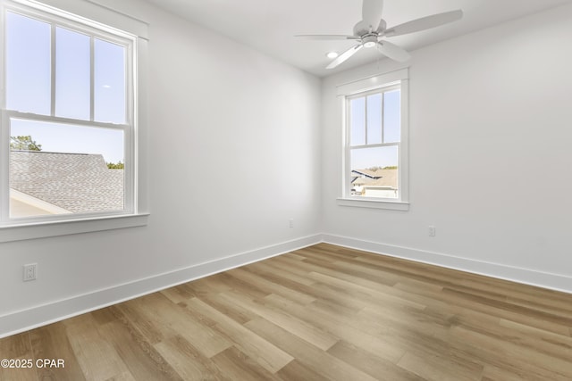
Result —
[{"label": "lower glass pane of the smaller window on the right wall", "polygon": [[351,150],[351,195],[398,198],[398,147]]}]

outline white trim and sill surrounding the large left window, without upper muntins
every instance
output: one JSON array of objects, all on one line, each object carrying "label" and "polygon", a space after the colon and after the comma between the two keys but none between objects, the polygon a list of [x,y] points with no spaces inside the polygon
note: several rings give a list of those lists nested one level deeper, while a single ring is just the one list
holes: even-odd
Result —
[{"label": "white trim and sill surrounding the large left window, without upper muntins", "polygon": [[[44,0],[45,4],[40,4],[29,0],[0,0],[0,27],[4,30],[5,13],[13,11],[23,14],[27,17],[38,18],[39,20],[57,23],[64,28],[76,30],[94,37],[103,39],[104,41],[120,43],[126,46],[128,53],[126,54],[126,120],[124,124],[103,123],[93,120],[75,120],[55,116],[44,116],[38,114],[30,114],[26,112],[8,111],[5,108],[5,65],[3,64],[2,73],[0,73],[0,89],[2,90],[0,99],[0,110],[2,111],[2,125],[0,128],[0,142],[4,146],[9,145],[10,134],[9,118],[30,119],[49,122],[63,122],[75,125],[84,125],[96,128],[119,128],[124,134],[124,153],[125,163],[128,159],[131,162],[130,171],[125,171],[124,179],[124,199],[125,209],[122,211],[111,211],[102,213],[77,213],[71,218],[71,215],[62,215],[46,220],[41,217],[32,219],[3,219],[0,221],[0,243],[17,241],[23,239],[34,239],[45,236],[63,236],[69,234],[86,233],[91,231],[109,230],[114,228],[130,228],[147,225],[147,216],[149,215],[147,204],[147,171],[146,171],[146,152],[141,149],[147,145],[147,114],[144,112],[147,108],[145,102],[147,99],[146,78],[144,75],[147,70],[147,23],[133,19],[128,15],[93,4],[87,1],[79,1],[76,3],[85,4],[86,8],[82,8],[82,12],[72,14],[66,10],[69,2],[60,2],[61,8],[56,9],[51,6],[52,0]],[[55,2],[58,3],[58,2]],[[75,4],[78,5],[78,4]],[[75,6],[74,5],[74,6]],[[76,7],[77,8],[77,7]],[[75,9],[74,9],[75,10]],[[86,11],[87,10],[87,11]],[[97,12],[92,12],[92,11]],[[89,18],[93,14],[93,18]],[[71,19],[68,19],[71,17]],[[103,20],[113,20],[112,26],[100,23]],[[115,29],[113,25],[121,25],[121,21],[126,21],[128,28],[126,31]],[[133,28],[135,26],[136,28]],[[132,33],[137,31],[137,34]],[[141,32],[141,33],[139,33]],[[141,36],[142,35],[142,36]],[[125,42],[129,41],[126,45]],[[4,41],[0,42],[0,60],[4,61]],[[93,73],[92,73],[93,75]],[[54,79],[52,79],[53,81]],[[9,156],[9,153],[6,154]],[[0,186],[9,189],[8,171],[9,160],[0,158]],[[9,203],[9,195],[3,196],[2,210],[6,211],[6,203]]]}]

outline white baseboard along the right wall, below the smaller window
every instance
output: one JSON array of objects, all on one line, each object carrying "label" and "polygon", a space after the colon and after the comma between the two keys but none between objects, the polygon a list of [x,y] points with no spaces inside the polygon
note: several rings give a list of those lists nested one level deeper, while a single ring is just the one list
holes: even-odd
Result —
[{"label": "white baseboard along the right wall, below the smaller window", "polygon": [[565,275],[551,274],[533,269],[521,269],[499,263],[475,261],[443,253],[432,253],[391,244],[380,244],[347,236],[324,234],[323,240],[327,244],[336,244],[351,249],[432,264],[448,269],[458,269],[486,277],[496,277],[529,286],[538,286],[572,294],[572,277]]}]

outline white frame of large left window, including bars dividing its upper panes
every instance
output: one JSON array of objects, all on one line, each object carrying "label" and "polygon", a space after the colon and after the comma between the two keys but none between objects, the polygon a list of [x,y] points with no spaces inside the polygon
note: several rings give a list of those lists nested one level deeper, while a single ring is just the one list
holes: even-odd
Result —
[{"label": "white frame of large left window, including bars dividing its upper panes", "polygon": [[[49,0],[47,1],[49,3]],[[86,3],[89,4],[89,3]],[[76,4],[77,5],[77,4]],[[93,8],[90,4],[87,8]],[[54,8],[49,4],[30,2],[29,0],[1,0],[0,1],[0,28],[5,30],[6,13],[16,12],[25,17],[44,21],[50,24],[50,36],[52,44],[51,52],[51,95],[50,95],[50,115],[41,115],[31,112],[19,112],[6,109],[6,70],[5,70],[5,38],[0,41],[0,144],[5,149],[0,150],[0,243],[21,239],[31,239],[43,236],[61,236],[89,231],[100,231],[113,228],[130,228],[147,225],[147,202],[146,197],[140,197],[141,185],[146,184],[146,175],[139,166],[141,153],[139,145],[145,144],[145,133],[140,137],[139,129],[145,126],[146,116],[141,112],[143,106],[141,99],[145,99],[144,77],[139,75],[141,66],[146,67],[147,39],[138,34],[130,33],[105,25],[104,23],[91,20],[85,14],[72,14],[63,9]],[[120,13],[98,7],[97,16],[102,13],[107,18],[122,17]],[[96,17],[96,19],[101,17]],[[105,17],[103,17],[105,19]],[[130,19],[128,24],[137,27],[147,25],[143,22],[134,24]],[[90,116],[89,120],[73,118],[63,118],[55,116],[55,29],[61,27],[75,32],[86,34],[90,37],[91,65],[90,72]],[[143,30],[145,28],[139,28]],[[5,36],[5,33],[3,32]],[[100,122],[95,119],[95,87],[94,76],[95,66],[94,45],[95,38],[105,42],[117,44],[125,48],[125,121],[124,123]],[[40,122],[55,122],[58,124],[68,124],[79,127],[90,128],[113,128],[121,130],[123,133],[123,154],[125,170],[123,172],[123,201],[124,208],[121,211],[101,211],[88,213],[73,213],[52,216],[34,216],[23,218],[10,218],[10,120],[32,120]],[[143,131],[145,132],[145,131]]]}]

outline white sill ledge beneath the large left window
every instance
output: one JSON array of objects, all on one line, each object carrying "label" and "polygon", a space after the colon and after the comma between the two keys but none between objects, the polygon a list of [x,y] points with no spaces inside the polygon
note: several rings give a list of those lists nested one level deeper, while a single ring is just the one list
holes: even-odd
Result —
[{"label": "white sill ledge beneath the large left window", "polygon": [[68,236],[118,228],[142,227],[147,225],[148,216],[148,213],[142,213],[96,219],[74,219],[4,226],[0,228],[0,243],[45,238],[48,236]]}]

